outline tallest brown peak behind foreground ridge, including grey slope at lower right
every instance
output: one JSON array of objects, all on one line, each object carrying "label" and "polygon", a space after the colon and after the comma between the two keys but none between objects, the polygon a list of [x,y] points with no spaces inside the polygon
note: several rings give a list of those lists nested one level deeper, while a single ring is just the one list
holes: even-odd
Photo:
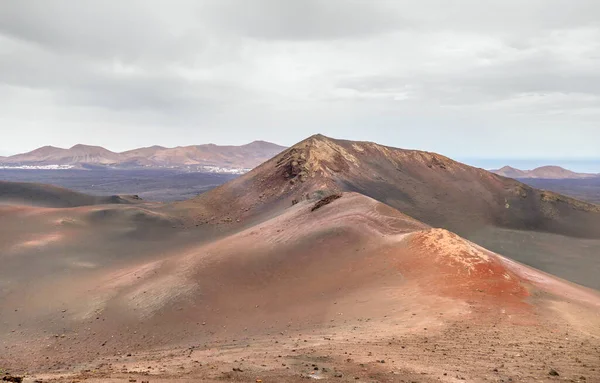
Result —
[{"label": "tallest brown peak behind foreground ridge, including grey slope at lower right", "polygon": [[313,136],[173,208],[190,224],[244,226],[295,202],[348,191],[543,271],[600,289],[595,276],[600,272],[598,205],[538,190],[434,153]]}]

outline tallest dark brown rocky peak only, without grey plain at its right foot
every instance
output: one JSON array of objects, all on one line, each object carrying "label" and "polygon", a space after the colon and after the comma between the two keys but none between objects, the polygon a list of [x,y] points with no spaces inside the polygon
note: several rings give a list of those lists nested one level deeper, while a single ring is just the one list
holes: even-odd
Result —
[{"label": "tallest dark brown rocky peak only, without grey plain at its right foot", "polygon": [[[600,238],[600,207],[531,188],[447,157],[313,136],[185,206],[219,214],[356,191],[462,235],[481,226]],[[275,204],[275,205],[274,205]],[[239,215],[239,214],[238,214]]]}]

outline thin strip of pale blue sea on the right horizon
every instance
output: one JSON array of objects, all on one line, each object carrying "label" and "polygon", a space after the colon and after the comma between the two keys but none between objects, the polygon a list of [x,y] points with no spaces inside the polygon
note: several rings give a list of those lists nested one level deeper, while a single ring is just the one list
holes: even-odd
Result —
[{"label": "thin strip of pale blue sea on the right horizon", "polygon": [[457,161],[483,169],[499,169],[512,166],[521,170],[531,170],[540,166],[561,166],[579,173],[600,173],[600,158],[561,159],[561,158],[457,158]]}]

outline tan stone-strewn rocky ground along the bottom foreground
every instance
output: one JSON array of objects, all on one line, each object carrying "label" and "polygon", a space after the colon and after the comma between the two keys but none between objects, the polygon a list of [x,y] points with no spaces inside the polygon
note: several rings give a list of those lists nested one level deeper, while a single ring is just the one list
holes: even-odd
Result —
[{"label": "tan stone-strewn rocky ground along the bottom foreground", "polygon": [[[568,303],[556,305],[544,310],[569,309]],[[327,327],[290,327],[18,374],[25,382],[600,381],[600,333],[585,323],[591,311],[574,313],[575,322],[548,323],[542,313],[490,321],[477,304],[459,315],[440,310],[377,318],[365,313]]]}]

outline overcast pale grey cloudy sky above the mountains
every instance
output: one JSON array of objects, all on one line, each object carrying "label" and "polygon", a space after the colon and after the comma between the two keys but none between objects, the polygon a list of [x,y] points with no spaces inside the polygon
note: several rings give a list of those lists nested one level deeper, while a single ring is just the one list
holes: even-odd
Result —
[{"label": "overcast pale grey cloudy sky above the mountains", "polygon": [[323,133],[600,157],[597,0],[0,2],[0,155]]}]

